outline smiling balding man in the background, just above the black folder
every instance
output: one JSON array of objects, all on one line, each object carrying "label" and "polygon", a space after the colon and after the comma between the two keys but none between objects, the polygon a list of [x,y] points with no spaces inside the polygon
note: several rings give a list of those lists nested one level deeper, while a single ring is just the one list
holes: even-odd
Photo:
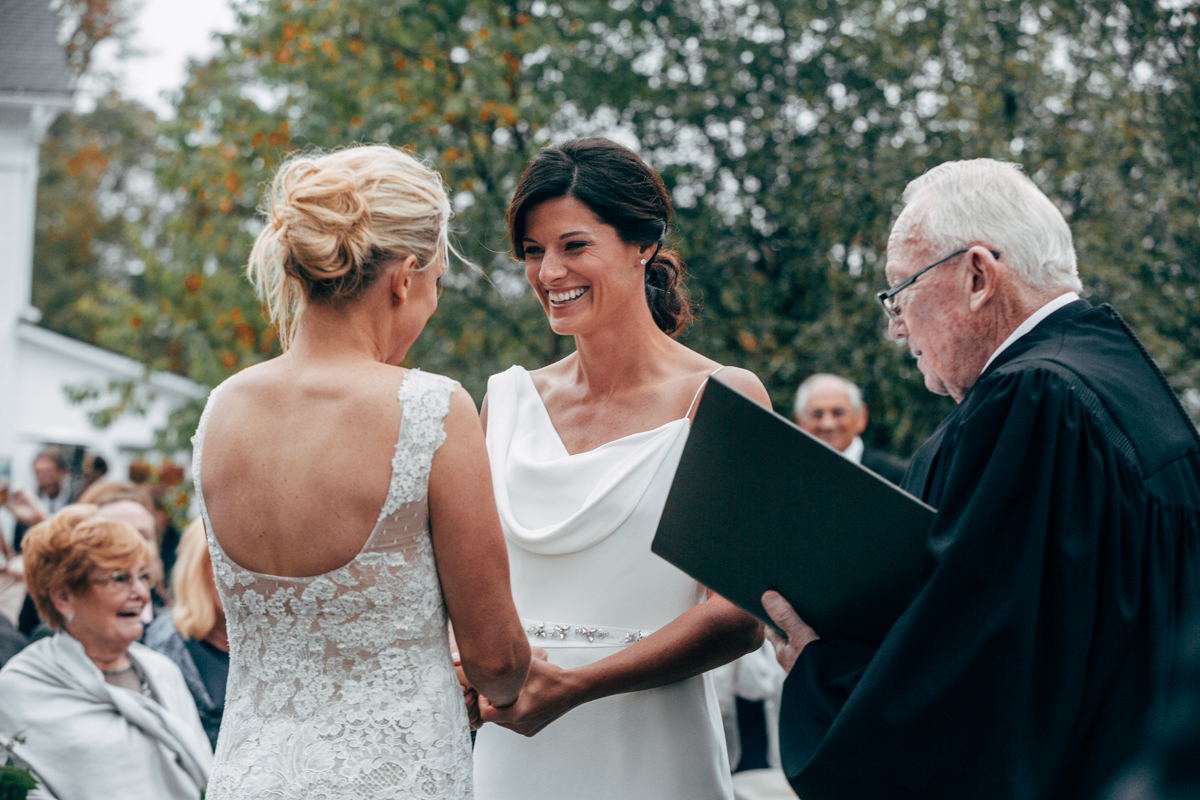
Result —
[{"label": "smiling balding man in the background, just above the black folder", "polygon": [[858,386],[841,375],[818,373],[796,390],[792,417],[821,441],[881,477],[899,483],[908,462],[863,444],[866,404]]}]

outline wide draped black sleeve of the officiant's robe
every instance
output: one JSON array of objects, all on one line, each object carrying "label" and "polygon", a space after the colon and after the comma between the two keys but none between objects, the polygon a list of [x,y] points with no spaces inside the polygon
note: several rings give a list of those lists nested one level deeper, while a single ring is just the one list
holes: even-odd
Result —
[{"label": "wide draped black sleeve of the officiant's robe", "polygon": [[943,440],[908,609],[877,650],[810,645],[785,684],[804,800],[1055,796],[1121,668],[1140,479],[1054,369],[988,380]]}]

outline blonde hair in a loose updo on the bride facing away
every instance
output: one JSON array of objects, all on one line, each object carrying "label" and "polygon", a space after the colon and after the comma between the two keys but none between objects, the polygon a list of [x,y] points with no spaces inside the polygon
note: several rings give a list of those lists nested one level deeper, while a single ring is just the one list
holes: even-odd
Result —
[{"label": "blonde hair in a loose updo on the bride facing away", "polygon": [[298,156],[280,167],[246,272],[286,350],[305,303],[355,300],[396,259],[446,258],[442,178],[383,144]]}]

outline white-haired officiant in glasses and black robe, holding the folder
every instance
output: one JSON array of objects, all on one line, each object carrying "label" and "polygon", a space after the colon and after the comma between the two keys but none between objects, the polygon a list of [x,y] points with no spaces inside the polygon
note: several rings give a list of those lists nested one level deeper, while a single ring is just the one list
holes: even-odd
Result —
[{"label": "white-haired officiant in glasses and black robe, holding the folder", "polygon": [[946,163],[902,199],[880,300],[959,403],[904,481],[938,512],[878,648],[763,596],[787,633],[784,769],[805,800],[1094,798],[1200,596],[1200,437],[1079,297],[1070,230],[1016,166]]}]

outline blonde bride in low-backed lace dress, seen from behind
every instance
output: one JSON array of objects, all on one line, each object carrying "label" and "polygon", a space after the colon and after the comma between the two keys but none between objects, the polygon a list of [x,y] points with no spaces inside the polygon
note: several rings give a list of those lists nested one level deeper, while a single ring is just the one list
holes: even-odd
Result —
[{"label": "blonde bride in low-backed lace dress, seen from behind", "polygon": [[209,800],[469,798],[448,640],[500,705],[529,645],[475,405],[401,368],[437,308],[450,205],[384,145],[302,156],[248,273],[283,354],[215,389],[193,440],[229,680]]}]

